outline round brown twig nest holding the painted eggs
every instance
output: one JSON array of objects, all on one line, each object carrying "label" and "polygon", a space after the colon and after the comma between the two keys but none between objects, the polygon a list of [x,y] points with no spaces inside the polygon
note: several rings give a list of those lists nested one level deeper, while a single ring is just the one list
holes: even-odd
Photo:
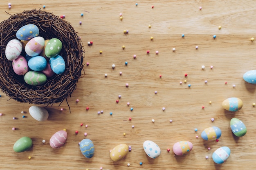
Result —
[{"label": "round brown twig nest holding the painted eggs", "polygon": [[[27,24],[38,26],[39,36],[45,39],[58,38],[63,44],[60,55],[66,63],[65,72],[48,78],[40,86],[25,83],[24,76],[15,74],[12,61],[5,57],[7,43],[17,39],[16,32]],[[62,102],[76,89],[83,70],[83,54],[82,42],[74,28],[53,13],[33,9],[11,15],[0,23],[0,88],[7,96],[19,102],[38,105]]]}]

